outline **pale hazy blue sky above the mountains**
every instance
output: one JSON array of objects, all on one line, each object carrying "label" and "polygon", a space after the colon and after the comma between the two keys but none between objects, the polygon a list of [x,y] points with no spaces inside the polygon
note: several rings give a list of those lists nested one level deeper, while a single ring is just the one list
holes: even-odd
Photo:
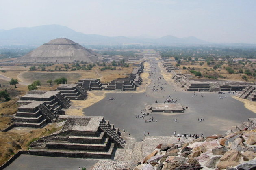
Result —
[{"label": "pale hazy blue sky above the mountains", "polygon": [[106,36],[256,43],[256,0],[0,0],[0,29],[49,24]]}]

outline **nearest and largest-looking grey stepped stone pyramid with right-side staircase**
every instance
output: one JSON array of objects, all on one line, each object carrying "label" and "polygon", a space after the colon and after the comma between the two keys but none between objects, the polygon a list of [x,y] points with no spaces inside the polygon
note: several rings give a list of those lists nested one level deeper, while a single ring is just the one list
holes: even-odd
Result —
[{"label": "nearest and largest-looking grey stepped stone pyramid with right-side staircase", "polygon": [[125,146],[119,129],[102,116],[59,115],[57,121],[65,121],[61,131],[31,143],[30,155],[111,159]]}]

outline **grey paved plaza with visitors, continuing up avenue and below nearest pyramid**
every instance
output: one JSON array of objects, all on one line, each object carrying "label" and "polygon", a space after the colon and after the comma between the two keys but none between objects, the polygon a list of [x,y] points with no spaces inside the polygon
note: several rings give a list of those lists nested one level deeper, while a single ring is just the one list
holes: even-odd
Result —
[{"label": "grey paved plaza with visitors, continuing up avenue and below nearest pyramid", "polygon": [[[184,91],[176,87],[171,80],[163,78],[163,73],[170,73],[166,73],[165,68],[161,66],[158,60],[150,59],[150,67],[145,68],[144,72],[150,75],[148,77],[150,80],[143,82],[144,85],[145,83],[148,84],[139,88],[145,87],[145,90],[139,89],[135,92],[93,91],[94,94],[105,95],[104,99],[83,109],[86,116],[104,116],[104,119],[115,123],[115,126],[119,127],[123,138],[126,140],[125,149],[117,149],[113,163],[109,160],[101,160],[98,164],[95,164],[94,169],[121,167],[127,163],[122,161],[135,160],[132,155],[138,155],[136,160],[139,160],[142,156],[145,156],[145,153],[150,153],[150,148],[154,149],[153,147],[156,144],[152,144],[152,141],[157,143],[177,142],[175,137],[171,137],[174,135],[174,131],[181,135],[185,133],[188,135],[203,134],[204,136],[224,134],[232,126],[240,124],[241,121],[255,117],[255,113],[245,108],[242,102],[232,98],[232,95],[236,94]],[[115,100],[108,100],[109,98],[115,98]],[[175,103],[184,113],[160,113],[148,110],[148,106],[155,104],[156,101],[161,103],[159,107],[164,107],[169,104],[163,104],[167,99],[173,101],[170,106],[173,105],[175,108]],[[186,109],[183,110],[183,108]],[[174,119],[177,121],[174,121]],[[146,122],[145,120],[151,121]],[[167,137],[151,139],[150,136]],[[143,142],[141,142],[142,140]],[[189,138],[189,140],[192,140],[192,138]],[[142,154],[142,152],[145,153]],[[37,162],[38,158],[38,156],[21,155],[6,169],[16,169],[21,165],[24,168],[36,168],[34,162]],[[51,159],[50,162],[58,162],[58,164],[42,164],[47,159]],[[77,169],[84,166],[89,169],[97,162],[95,159],[59,157],[40,157],[40,160],[38,162],[40,168],[37,169]]]}]

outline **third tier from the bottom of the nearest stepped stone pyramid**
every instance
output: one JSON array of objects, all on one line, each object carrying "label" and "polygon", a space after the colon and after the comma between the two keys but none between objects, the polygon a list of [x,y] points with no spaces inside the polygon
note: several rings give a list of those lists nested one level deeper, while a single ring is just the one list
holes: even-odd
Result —
[{"label": "third tier from the bottom of the nearest stepped stone pyramid", "polygon": [[69,136],[68,141],[71,143],[102,144],[105,132],[98,136]]}]

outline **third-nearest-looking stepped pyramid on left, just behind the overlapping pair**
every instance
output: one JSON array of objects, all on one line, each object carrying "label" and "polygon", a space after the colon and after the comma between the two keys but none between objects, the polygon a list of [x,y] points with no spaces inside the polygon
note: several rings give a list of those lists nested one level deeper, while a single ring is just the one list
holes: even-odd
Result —
[{"label": "third-nearest-looking stepped pyramid on left, just behind the overlapping pair", "polygon": [[82,90],[77,84],[60,85],[57,87],[57,91],[61,91],[63,96],[72,100],[85,100],[87,98],[87,92]]}]

